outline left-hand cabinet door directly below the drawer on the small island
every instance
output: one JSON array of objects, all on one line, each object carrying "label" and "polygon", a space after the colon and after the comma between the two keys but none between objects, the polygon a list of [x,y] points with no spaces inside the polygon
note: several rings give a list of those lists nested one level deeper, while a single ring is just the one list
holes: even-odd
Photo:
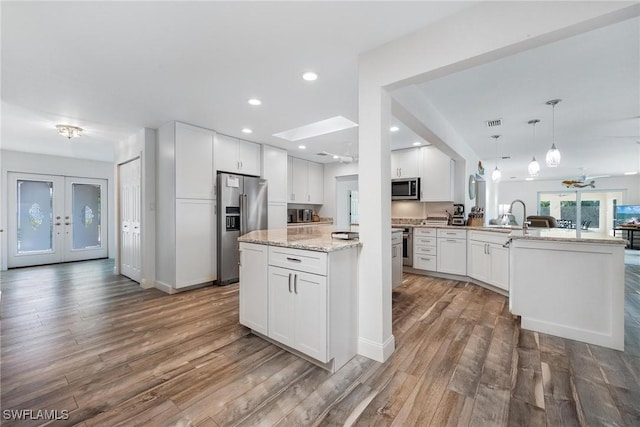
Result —
[{"label": "left-hand cabinet door directly below the drawer on the small island", "polygon": [[295,348],[292,270],[269,266],[269,338]]}]

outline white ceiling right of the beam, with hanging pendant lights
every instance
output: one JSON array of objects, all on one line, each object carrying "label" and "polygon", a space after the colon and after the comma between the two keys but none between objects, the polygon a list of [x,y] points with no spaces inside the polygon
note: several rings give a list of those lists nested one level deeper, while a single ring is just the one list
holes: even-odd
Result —
[{"label": "white ceiling right of the beam, with hanging pendant lights", "polygon": [[[640,171],[640,19],[630,19],[462,72],[405,87],[420,91],[473,148],[490,172],[524,179],[532,157],[538,179]],[[415,98],[415,93],[412,93]],[[556,105],[557,168],[544,166]],[[487,128],[486,120],[503,125]],[[534,140],[529,120],[539,119]],[[502,159],[506,156],[510,159]]]}]

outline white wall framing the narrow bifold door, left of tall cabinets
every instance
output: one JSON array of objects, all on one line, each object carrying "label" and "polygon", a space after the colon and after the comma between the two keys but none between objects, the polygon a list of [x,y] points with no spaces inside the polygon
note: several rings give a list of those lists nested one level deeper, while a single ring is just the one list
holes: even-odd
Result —
[{"label": "white wall framing the narrow bifold door, left of tall cabinets", "polygon": [[[142,278],[144,288],[155,286],[156,278],[156,131],[155,129],[140,129],[137,133],[120,141],[116,146],[116,189],[118,183],[117,165],[140,157],[142,166],[141,178],[141,251]],[[118,200],[116,194],[116,201]],[[115,210],[118,217],[119,209]],[[119,223],[116,222],[116,223]],[[116,247],[119,248],[119,235],[116,233]],[[118,250],[118,255],[119,255]],[[116,268],[119,270],[119,256],[116,256]]]}]

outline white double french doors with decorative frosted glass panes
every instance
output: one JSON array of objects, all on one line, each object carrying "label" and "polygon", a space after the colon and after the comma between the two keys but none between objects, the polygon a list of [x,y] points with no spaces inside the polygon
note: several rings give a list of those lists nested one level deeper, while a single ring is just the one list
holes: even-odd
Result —
[{"label": "white double french doors with decorative frosted glass panes", "polygon": [[7,266],[106,258],[107,181],[9,173]]}]

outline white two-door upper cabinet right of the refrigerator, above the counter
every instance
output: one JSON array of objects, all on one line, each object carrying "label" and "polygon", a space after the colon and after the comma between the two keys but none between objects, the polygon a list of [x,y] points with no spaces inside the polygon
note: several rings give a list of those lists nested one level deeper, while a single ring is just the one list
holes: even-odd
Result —
[{"label": "white two-door upper cabinet right of the refrigerator, above the counter", "polygon": [[324,166],[289,157],[288,162],[288,202],[301,204],[324,203]]}]

